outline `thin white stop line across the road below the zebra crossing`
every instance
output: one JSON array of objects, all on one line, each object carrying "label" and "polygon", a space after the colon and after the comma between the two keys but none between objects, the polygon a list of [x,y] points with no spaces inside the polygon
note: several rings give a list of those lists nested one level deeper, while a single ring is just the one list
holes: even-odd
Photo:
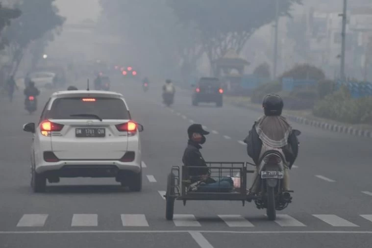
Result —
[{"label": "thin white stop line across the road below the zebra crossing", "polygon": [[[193,230],[81,230],[81,231],[0,231],[0,234],[63,234],[63,233],[186,233]],[[236,233],[236,234],[372,234],[372,231],[213,231],[199,230],[200,233]]]}]

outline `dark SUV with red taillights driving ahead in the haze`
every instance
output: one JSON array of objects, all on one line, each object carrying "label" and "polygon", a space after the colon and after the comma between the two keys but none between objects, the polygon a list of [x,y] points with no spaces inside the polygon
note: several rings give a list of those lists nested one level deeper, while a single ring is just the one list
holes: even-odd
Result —
[{"label": "dark SUV with red taillights driving ahead in the haze", "polygon": [[193,93],[193,105],[199,102],[215,102],[217,107],[223,104],[223,89],[221,81],[217,77],[201,77]]}]

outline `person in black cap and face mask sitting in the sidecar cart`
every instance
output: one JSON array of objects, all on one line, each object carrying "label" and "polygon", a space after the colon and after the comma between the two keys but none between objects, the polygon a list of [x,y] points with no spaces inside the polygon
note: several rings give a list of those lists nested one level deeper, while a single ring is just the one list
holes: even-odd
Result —
[{"label": "person in black cap and face mask sitting in the sidecar cart", "polygon": [[201,124],[192,124],[187,129],[189,141],[184,151],[182,162],[184,166],[198,166],[200,168],[189,168],[188,175],[191,179],[190,190],[203,192],[229,192],[233,188],[230,177],[212,178],[207,164],[200,153],[201,144],[204,144],[209,132],[205,131]]}]

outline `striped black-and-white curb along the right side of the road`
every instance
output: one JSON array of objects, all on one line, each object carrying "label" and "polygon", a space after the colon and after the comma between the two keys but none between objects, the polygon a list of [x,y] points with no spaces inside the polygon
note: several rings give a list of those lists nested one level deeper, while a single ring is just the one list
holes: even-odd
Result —
[{"label": "striped black-and-white curb along the right side of the road", "polygon": [[[261,109],[259,110],[256,107],[250,107],[250,106],[239,104],[236,102],[230,102],[230,103],[237,107],[245,107],[250,110],[262,112]],[[294,115],[283,114],[283,116],[286,117],[288,120],[299,123],[299,124],[311,125],[311,126],[322,128],[324,130],[329,130],[329,131],[338,132],[338,133],[345,133],[345,134],[349,134],[352,136],[372,138],[372,130],[353,128],[351,126],[340,125],[340,124],[330,124],[326,122],[319,122],[319,121],[314,121],[314,120],[310,120],[304,117],[298,117]]]}]

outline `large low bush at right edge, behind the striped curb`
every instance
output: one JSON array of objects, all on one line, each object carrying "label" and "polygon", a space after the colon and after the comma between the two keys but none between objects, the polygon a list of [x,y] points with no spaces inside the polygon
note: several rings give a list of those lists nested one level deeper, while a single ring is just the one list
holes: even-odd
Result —
[{"label": "large low bush at right edge, behind the striped curb", "polygon": [[315,104],[313,114],[349,124],[372,124],[372,97],[352,99],[344,86]]}]

